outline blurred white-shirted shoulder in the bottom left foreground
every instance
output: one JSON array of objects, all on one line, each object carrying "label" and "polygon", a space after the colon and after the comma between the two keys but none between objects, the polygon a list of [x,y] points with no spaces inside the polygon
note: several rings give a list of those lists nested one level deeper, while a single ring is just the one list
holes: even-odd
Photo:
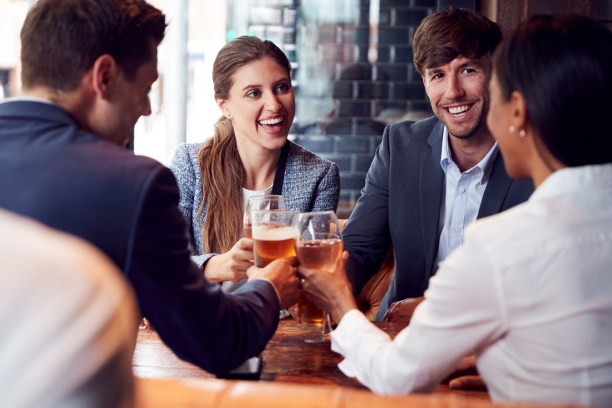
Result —
[{"label": "blurred white-shirted shoulder in the bottom left foreground", "polygon": [[80,238],[0,210],[0,405],[134,405],[138,316],[116,266]]}]

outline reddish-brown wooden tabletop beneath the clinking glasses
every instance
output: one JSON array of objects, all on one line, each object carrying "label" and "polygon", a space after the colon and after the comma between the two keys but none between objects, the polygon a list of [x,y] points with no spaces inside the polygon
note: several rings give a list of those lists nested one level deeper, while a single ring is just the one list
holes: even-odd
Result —
[{"label": "reddish-brown wooden tabletop beneath the clinking glasses", "polygon": [[[394,337],[403,329],[403,323],[376,322],[376,325]],[[280,321],[278,329],[264,350],[261,380],[299,384],[328,384],[364,389],[353,378],[346,377],[337,364],[341,356],[330,350],[330,343],[305,343],[305,338],[316,337],[319,327],[297,323],[288,318]],[[207,378],[206,371],[182,361],[163,344],[156,332],[140,329],[134,352],[134,375],[141,378]],[[488,399],[480,391],[451,391],[441,385],[438,393],[454,393]]]}]

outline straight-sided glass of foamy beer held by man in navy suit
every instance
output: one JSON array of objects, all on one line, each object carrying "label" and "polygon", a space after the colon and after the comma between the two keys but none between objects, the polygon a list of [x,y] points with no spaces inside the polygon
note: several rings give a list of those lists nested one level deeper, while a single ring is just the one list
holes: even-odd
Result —
[{"label": "straight-sided glass of foamy beer held by man in navy suit", "polygon": [[[277,202],[280,205],[281,202]],[[282,202],[284,205],[284,202]],[[297,211],[253,210],[251,232],[255,266],[263,268],[275,259],[296,256]],[[280,309],[278,318],[289,317],[287,309]]]}]

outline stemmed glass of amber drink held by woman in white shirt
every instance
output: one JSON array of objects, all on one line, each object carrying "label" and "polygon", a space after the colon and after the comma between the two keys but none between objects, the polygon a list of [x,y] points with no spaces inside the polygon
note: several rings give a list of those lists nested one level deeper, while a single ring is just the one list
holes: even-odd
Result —
[{"label": "stemmed glass of amber drink held by woman in white shirt", "polygon": [[[342,232],[334,211],[300,213],[296,227],[296,254],[300,265],[334,272],[343,248]],[[304,294],[300,298],[300,318],[304,323],[322,325],[321,336],[307,338],[307,343],[330,341],[332,325],[329,313],[316,307]]]}]

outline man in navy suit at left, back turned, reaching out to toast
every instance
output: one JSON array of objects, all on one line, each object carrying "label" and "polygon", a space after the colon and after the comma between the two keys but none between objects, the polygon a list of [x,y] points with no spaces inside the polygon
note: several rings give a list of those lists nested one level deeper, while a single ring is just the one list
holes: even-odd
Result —
[{"label": "man in navy suit at left, back turned, reaching out to toast", "polygon": [[[181,358],[223,373],[259,354],[297,301],[290,261],[232,295],[189,259],[168,168],[122,148],[157,79],[165,16],[143,0],[39,0],[22,28],[24,97],[0,104],[0,206],[90,241]],[[16,305],[18,307],[18,305]]]}]

